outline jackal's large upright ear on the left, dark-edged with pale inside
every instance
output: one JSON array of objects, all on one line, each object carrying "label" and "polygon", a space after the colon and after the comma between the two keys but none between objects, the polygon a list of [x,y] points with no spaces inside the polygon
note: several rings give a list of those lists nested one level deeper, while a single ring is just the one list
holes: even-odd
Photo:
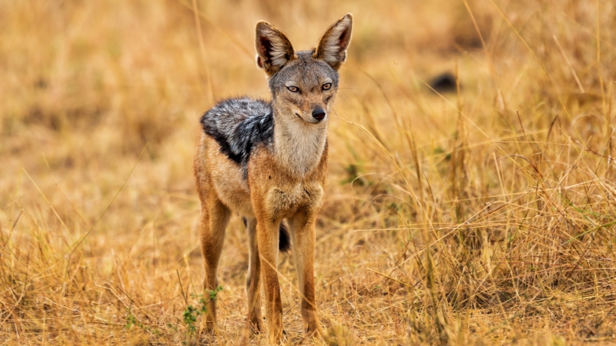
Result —
[{"label": "jackal's large upright ear on the left, dark-edged with pale inside", "polygon": [[257,65],[265,70],[267,76],[280,71],[286,63],[297,58],[291,41],[270,23],[257,22]]}]

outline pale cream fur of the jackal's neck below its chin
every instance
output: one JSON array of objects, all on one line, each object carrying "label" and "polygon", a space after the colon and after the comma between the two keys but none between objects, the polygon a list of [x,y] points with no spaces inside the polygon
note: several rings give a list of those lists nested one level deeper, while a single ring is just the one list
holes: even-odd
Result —
[{"label": "pale cream fur of the jackal's neck below its chin", "polygon": [[274,111],[274,157],[291,175],[299,178],[314,171],[323,156],[327,121],[310,124]]}]

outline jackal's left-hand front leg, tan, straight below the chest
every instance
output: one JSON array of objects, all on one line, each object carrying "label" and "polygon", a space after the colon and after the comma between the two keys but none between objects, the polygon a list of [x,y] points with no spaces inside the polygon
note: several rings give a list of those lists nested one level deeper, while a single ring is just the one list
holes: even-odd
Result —
[{"label": "jackal's left-hand front leg, tan, straight below the chest", "polygon": [[278,223],[257,219],[257,246],[265,296],[265,320],[269,344],[282,341],[282,300],[278,283]]}]

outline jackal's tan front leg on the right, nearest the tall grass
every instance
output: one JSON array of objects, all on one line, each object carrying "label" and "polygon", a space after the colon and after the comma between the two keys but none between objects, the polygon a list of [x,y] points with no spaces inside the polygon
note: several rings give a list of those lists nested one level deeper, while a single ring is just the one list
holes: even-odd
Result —
[{"label": "jackal's tan front leg on the right, nearest the tall grass", "polygon": [[298,273],[299,293],[301,295],[301,312],[304,326],[309,336],[320,336],[321,325],[318,321],[314,291],[314,215],[298,212],[291,218],[291,239],[295,268]]}]

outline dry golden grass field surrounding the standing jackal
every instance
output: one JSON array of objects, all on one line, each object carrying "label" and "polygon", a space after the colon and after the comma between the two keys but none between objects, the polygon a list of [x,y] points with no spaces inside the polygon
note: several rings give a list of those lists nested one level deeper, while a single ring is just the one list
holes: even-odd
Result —
[{"label": "dry golden grass field surrounding the standing jackal", "polygon": [[188,308],[198,119],[269,97],[257,20],[309,49],[347,12],[314,343],[616,343],[616,2],[0,0],[0,344],[238,344],[240,217],[220,333]]}]

